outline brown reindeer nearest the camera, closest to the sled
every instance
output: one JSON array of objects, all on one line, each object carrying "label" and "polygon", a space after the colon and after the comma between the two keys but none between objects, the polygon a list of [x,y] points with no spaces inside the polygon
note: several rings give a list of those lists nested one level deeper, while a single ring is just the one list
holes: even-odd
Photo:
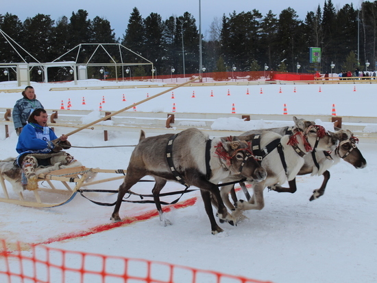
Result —
[{"label": "brown reindeer nearest the camera, closest to the sled", "polygon": [[210,194],[217,199],[221,221],[235,224],[234,218],[228,213],[217,183],[231,174],[245,177],[247,181],[262,181],[267,172],[260,167],[250,152],[246,141],[235,137],[210,140],[208,135],[196,128],[189,128],[177,135],[166,134],[145,138],[141,131],[138,145],[132,152],[127,174],[119,187],[117,203],[110,220],[121,221],[119,208],[125,193],[142,177],[151,175],[156,183],[152,190],[160,220],[164,225],[171,224],[163,216],[159,193],[167,181],[180,181],[186,185],[194,185],[200,189],[204,207],[210,219],[212,234],[223,231],[217,225],[210,204]]}]

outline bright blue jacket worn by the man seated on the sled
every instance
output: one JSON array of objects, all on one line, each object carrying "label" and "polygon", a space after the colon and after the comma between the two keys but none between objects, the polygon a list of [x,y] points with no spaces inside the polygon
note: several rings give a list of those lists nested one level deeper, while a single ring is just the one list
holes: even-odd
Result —
[{"label": "bright blue jacket worn by the man seated on the sled", "polygon": [[20,153],[19,157],[25,153],[49,153],[54,148],[51,142],[54,139],[58,137],[51,128],[29,123],[23,127],[16,150]]}]

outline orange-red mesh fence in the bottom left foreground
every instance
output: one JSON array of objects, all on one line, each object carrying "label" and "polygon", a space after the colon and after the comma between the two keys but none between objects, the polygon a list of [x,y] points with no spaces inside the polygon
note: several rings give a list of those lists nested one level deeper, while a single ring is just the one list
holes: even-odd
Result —
[{"label": "orange-red mesh fence in the bottom left foreground", "polygon": [[156,262],[98,253],[65,251],[43,245],[10,251],[0,246],[0,282],[18,283],[271,283]]}]

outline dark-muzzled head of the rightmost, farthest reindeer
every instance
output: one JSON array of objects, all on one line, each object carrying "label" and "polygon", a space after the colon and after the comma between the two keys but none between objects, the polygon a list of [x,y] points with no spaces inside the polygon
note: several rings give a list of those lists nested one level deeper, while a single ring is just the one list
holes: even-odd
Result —
[{"label": "dark-muzzled head of the rightmost, farthest reindeer", "polygon": [[354,134],[349,130],[339,129],[334,134],[339,138],[339,146],[337,146],[335,153],[355,168],[365,168],[367,161],[356,146],[358,138],[354,137]]}]

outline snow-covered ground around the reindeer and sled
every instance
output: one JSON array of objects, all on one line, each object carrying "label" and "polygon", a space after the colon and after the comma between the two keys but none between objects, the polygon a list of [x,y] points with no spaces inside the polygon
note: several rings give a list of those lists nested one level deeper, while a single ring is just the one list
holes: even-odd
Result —
[{"label": "snow-covered ground around the reindeer and sled", "polygon": [[[117,84],[97,80],[79,83],[82,86]],[[136,84],[119,82],[117,85],[126,83]],[[165,90],[49,91],[51,87],[74,87],[74,84],[32,85],[45,109],[60,109],[61,101],[66,105],[70,99],[71,109],[93,111],[98,110],[103,96],[106,98],[104,111],[118,111],[145,99],[147,93],[151,96]],[[21,94],[1,92],[3,89],[16,89],[16,85],[0,84],[1,107],[13,107]],[[227,95],[228,90],[230,95]],[[192,98],[194,91],[195,98]],[[211,91],[214,97],[210,97]],[[283,104],[287,104],[288,113],[300,117],[330,115],[335,104],[339,116],[374,117],[376,93],[377,84],[181,87],[175,89],[174,100],[171,93],[165,93],[139,105],[137,111],[171,112],[174,102],[178,113],[230,113],[234,104],[236,113],[282,114]],[[123,94],[126,102],[122,102]],[[82,105],[83,97],[86,105]],[[223,121],[229,123],[229,120]],[[230,123],[236,128],[241,122]],[[287,125],[291,124],[293,122],[287,121]],[[72,130],[57,128],[56,134],[69,131]],[[0,159],[16,157],[17,137],[13,129],[9,138],[4,137],[1,127]],[[109,141],[104,141],[101,131],[84,130],[69,140],[74,146],[133,145],[138,142],[138,133],[110,132]],[[0,238],[8,242],[45,243],[71,251],[157,260],[275,283],[377,282],[377,189],[372,180],[377,170],[377,145],[360,143],[358,148],[367,159],[367,167],[356,170],[341,161],[330,168],[331,179],[321,198],[309,201],[313,190],[321,185],[322,177],[298,177],[295,194],[266,190],[263,210],[245,212],[247,218],[236,227],[220,224],[224,232],[216,236],[210,234],[210,223],[199,192],[191,192],[181,201],[197,197],[195,205],[169,212],[167,218],[173,223],[169,227],[160,225],[158,218],[151,218],[80,237],[72,235],[109,224],[112,207],[95,205],[80,195],[66,205],[47,209],[0,203]],[[71,148],[69,152],[89,168],[126,169],[132,150],[132,147]],[[99,175],[97,179],[102,177],[108,176]],[[120,183],[112,181],[96,188],[116,190]],[[133,190],[149,194],[152,186],[139,183]],[[182,189],[179,183],[167,184],[167,190]],[[110,194],[90,196],[99,201],[115,200]],[[244,196],[239,193],[239,198],[244,199]],[[154,209],[154,205],[123,203],[120,215],[132,217]],[[64,238],[68,239],[62,240]]]}]

